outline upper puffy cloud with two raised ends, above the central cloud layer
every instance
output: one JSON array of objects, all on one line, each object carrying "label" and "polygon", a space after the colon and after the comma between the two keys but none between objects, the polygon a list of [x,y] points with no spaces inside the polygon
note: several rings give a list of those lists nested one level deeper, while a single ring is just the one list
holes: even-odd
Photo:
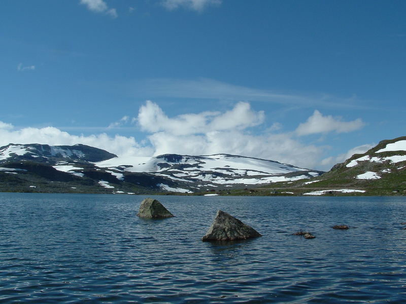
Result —
[{"label": "upper puffy cloud with two raised ends, above the central cloud layer", "polygon": [[221,112],[201,112],[183,114],[168,118],[154,102],[147,101],[141,106],[138,123],[147,132],[161,132],[174,135],[189,135],[211,131],[246,129],[262,124],[263,111],[253,111],[247,102],[237,103],[231,110]]}]

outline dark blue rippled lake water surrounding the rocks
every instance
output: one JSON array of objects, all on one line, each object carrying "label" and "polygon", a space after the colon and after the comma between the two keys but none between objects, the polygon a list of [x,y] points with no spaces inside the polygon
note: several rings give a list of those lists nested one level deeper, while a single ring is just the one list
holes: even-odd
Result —
[{"label": "dark blue rippled lake water surrounding the rocks", "polygon": [[[0,303],[406,302],[405,198],[144,198],[0,194]],[[201,242],[218,209],[263,237]]]}]

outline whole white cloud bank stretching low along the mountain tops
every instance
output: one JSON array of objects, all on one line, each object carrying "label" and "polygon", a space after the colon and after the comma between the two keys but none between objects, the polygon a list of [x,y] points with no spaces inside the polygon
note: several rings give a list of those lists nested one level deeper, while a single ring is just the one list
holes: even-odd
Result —
[{"label": "whole white cloud bank stretching low along the mountain tops", "polygon": [[[342,162],[353,153],[370,147],[363,145],[338,157],[325,158],[326,145],[302,142],[298,135],[328,132],[350,132],[360,128],[360,120],[343,122],[315,111],[296,131],[276,133],[278,123],[265,131],[253,132],[253,127],[264,123],[265,113],[253,110],[249,103],[239,102],[226,111],[204,111],[168,117],[158,104],[147,101],[136,117],[124,116],[110,124],[116,128],[137,123],[146,133],[140,142],[134,137],[109,136],[106,133],[90,136],[72,135],[54,127],[16,129],[0,122],[0,145],[9,143],[43,143],[50,145],[87,144],[119,156],[157,156],[168,153],[183,155],[233,154],[275,160],[305,168],[324,169]],[[323,159],[324,157],[324,159]]]}]

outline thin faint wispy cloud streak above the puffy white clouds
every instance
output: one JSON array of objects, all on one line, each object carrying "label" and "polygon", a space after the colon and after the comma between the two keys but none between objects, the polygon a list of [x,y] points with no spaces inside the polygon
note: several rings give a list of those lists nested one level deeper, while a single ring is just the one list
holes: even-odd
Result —
[{"label": "thin faint wispy cloud streak above the puffy white clouds", "polygon": [[339,98],[328,94],[295,95],[272,90],[236,86],[212,79],[149,79],[127,85],[132,94],[144,98],[196,98],[230,101],[261,101],[285,106],[367,109],[357,97]]}]

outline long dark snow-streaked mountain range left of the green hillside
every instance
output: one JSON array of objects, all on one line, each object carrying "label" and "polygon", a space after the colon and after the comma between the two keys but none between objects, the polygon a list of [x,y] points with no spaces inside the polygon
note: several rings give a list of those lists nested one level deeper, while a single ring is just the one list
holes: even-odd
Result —
[{"label": "long dark snow-streaked mountain range left of the green hillside", "polygon": [[291,182],[321,173],[227,154],[121,158],[82,144],[0,147],[0,191],[11,192],[196,193]]}]

